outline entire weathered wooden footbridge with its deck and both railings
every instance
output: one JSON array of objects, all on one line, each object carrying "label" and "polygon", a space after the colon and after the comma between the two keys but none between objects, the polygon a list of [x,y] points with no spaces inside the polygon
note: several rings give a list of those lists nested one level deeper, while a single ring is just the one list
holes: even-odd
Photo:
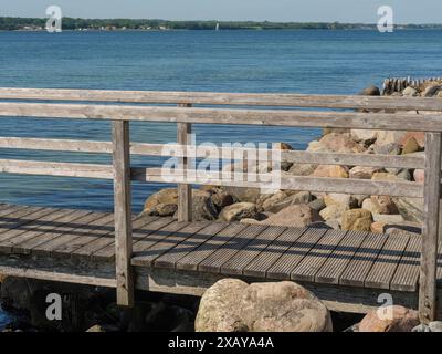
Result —
[{"label": "entire weathered wooden footbridge with its deck and both railings", "polygon": [[[112,166],[0,159],[0,171],[106,178],[115,186],[114,214],[0,205],[1,274],[116,288],[118,303],[127,306],[134,303],[135,289],[201,295],[215,281],[233,277],[294,280],[337,311],[365,312],[379,306],[379,295],[388,293],[394,304],[419,309],[423,322],[442,312],[436,301],[442,291],[439,98],[0,88],[0,117],[113,122],[108,143],[1,137],[0,148],[114,158]],[[295,110],[304,107],[309,110]],[[165,155],[164,145],[131,144],[130,121],[177,123],[178,174],[130,166],[130,155]],[[299,164],[422,168],[423,185],[286,175],[280,180],[281,189],[290,190],[423,198],[422,236],[192,221],[191,185],[262,183],[191,170],[191,159],[208,154],[207,147],[190,145],[191,124],[424,132],[424,156],[281,152],[284,160]],[[250,153],[223,147],[221,157],[231,159],[239,150]],[[178,184],[178,220],[133,216],[131,180]]]}]

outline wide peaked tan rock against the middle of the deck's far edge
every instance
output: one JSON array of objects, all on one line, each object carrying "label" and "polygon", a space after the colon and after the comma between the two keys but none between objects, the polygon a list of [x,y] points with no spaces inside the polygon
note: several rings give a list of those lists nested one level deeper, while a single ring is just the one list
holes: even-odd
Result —
[{"label": "wide peaked tan rock against the middle of the deck's far edge", "polygon": [[315,221],[323,221],[318,212],[307,205],[290,206],[261,221],[264,225],[305,227]]}]

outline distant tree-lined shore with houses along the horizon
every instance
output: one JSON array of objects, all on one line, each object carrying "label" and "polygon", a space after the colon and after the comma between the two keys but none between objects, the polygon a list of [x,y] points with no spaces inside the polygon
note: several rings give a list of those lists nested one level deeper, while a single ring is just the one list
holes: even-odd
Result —
[{"label": "distant tree-lined shore with houses along the horizon", "polygon": [[[44,31],[45,18],[0,17],[0,31]],[[168,21],[135,19],[63,18],[63,30],[72,31],[176,31],[176,30],[377,30],[373,23],[255,22],[255,21]],[[398,24],[397,30],[442,30],[442,24]]]}]

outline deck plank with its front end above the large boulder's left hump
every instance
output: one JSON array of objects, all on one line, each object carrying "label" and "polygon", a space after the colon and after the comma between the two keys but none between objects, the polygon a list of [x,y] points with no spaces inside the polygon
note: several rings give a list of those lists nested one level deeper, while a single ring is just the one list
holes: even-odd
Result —
[{"label": "deck plank with its front end above the large boulder's left hump", "polygon": [[221,267],[222,274],[242,275],[243,269],[280,237],[286,227],[270,227]]}]

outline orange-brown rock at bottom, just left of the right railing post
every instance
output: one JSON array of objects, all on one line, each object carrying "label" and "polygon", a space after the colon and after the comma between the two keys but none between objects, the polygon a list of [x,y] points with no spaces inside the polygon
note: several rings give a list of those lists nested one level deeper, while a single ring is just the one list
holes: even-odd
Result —
[{"label": "orange-brown rock at bottom, just left of the right railing post", "polygon": [[[391,316],[388,315],[391,312]],[[403,306],[390,306],[370,311],[360,322],[359,332],[411,332],[419,325],[418,312]]]}]

